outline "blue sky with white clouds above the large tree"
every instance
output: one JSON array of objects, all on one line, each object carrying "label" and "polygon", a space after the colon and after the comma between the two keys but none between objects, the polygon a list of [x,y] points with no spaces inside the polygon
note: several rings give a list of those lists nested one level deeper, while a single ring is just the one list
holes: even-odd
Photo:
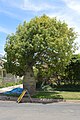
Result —
[{"label": "blue sky with white clouds above the large tree", "polygon": [[[65,21],[78,32],[76,42],[80,45],[80,0],[0,0],[0,54],[8,34],[15,33],[24,20],[29,22],[43,14]],[[76,52],[80,53],[80,49]]]}]

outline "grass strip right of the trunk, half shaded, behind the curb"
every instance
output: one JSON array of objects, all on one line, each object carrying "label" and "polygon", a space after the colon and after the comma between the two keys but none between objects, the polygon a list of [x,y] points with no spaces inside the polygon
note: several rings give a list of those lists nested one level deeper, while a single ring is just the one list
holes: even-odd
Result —
[{"label": "grass strip right of the trunk, half shaded, behind the curb", "polygon": [[33,97],[35,98],[47,98],[47,99],[64,99],[64,100],[80,100],[80,92],[37,92]]}]

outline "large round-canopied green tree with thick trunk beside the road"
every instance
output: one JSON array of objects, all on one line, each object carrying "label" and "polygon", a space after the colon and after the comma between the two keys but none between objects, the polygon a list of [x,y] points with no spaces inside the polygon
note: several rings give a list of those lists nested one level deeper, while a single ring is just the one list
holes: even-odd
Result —
[{"label": "large round-canopied green tree with thick trunk beside the road", "polygon": [[33,66],[47,65],[53,73],[63,74],[75,50],[76,33],[65,22],[46,15],[24,21],[5,45],[6,69],[24,76],[23,87],[35,91]]}]

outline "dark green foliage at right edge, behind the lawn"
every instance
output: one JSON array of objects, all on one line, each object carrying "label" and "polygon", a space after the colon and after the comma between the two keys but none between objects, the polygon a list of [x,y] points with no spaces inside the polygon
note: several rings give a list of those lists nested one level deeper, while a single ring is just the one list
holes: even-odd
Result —
[{"label": "dark green foliage at right edge, behind the lawn", "polygon": [[73,55],[65,70],[67,84],[80,84],[80,54]]}]

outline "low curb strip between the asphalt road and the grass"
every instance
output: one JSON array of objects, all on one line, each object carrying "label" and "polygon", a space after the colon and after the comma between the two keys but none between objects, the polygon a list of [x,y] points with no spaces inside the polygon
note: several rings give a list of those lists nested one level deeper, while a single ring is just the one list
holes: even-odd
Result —
[{"label": "low curb strip between the asphalt road and the grass", "polygon": [[[13,97],[13,96],[5,96],[5,95],[0,95],[0,100],[1,101],[15,101],[17,102],[18,97]],[[80,103],[80,100],[64,100],[64,99],[39,99],[39,98],[32,98],[32,101],[27,98],[23,97],[21,100],[21,103],[43,103],[43,104],[48,104],[48,103],[57,103],[57,102],[65,102],[65,103]]]}]

